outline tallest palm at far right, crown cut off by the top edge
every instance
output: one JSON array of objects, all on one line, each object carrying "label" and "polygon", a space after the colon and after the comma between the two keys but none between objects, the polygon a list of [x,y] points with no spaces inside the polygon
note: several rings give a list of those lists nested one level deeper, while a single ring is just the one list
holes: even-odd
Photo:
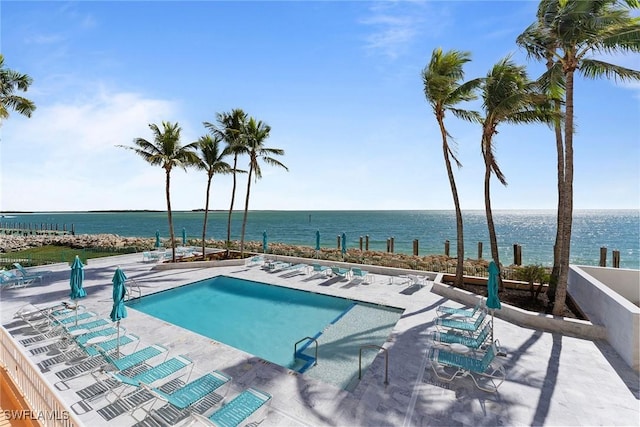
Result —
[{"label": "tallest palm at far right, crown cut off by the top edge", "polygon": [[527,52],[547,61],[542,84],[564,94],[564,141],[558,144],[558,264],[553,313],[564,309],[573,225],[574,82],[578,71],[587,78],[640,80],[640,72],[596,59],[593,55],[640,51],[640,18],[630,10],[638,0],[542,0],[536,22],[517,39]]}]

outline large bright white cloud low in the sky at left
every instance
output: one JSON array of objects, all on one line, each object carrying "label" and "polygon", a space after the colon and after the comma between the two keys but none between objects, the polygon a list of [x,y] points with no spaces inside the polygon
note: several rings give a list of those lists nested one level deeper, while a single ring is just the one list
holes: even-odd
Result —
[{"label": "large bright white cloud low in the sky at left", "polygon": [[[150,138],[148,124],[174,110],[168,101],[98,88],[72,103],[39,105],[31,119],[12,117],[3,126],[1,209],[162,209],[162,170],[116,145]],[[140,194],[153,194],[154,206]]]}]

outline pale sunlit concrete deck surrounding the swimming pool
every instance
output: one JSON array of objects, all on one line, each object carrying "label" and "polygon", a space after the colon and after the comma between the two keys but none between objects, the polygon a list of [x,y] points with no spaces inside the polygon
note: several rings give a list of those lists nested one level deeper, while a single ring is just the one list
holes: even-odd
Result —
[{"label": "pale sunlit concrete deck surrounding the swimming pool", "polygon": [[[226,275],[404,309],[384,344],[389,384],[384,384],[381,352],[353,392],[167,324],[135,307],[128,310],[122,326],[140,337],[141,346],[162,344],[169,349],[169,356],[187,355],[195,362],[192,378],[213,369],[231,376],[228,400],[247,387],[270,393],[273,399],[261,426],[640,424],[638,374],[603,340],[527,329],[496,318],[495,336],[507,353],[500,358],[507,378],[498,393],[478,390],[469,378],[439,381],[426,358],[433,345],[433,319],[439,305],[459,304],[432,293],[429,284],[411,293],[397,277],[390,284],[389,276],[379,274],[369,285],[349,286],[344,281],[320,286],[324,279],[281,277],[259,266],[157,270],[154,264],[143,263],[141,254],[135,254],[90,260],[85,267],[87,298],[81,304],[104,318],[111,311],[111,279],[117,266],[139,284],[143,295]],[[19,307],[68,300],[69,267],[57,265],[51,269],[53,273],[42,284],[2,291],[2,324],[14,337],[23,338],[25,332],[13,318]],[[33,356],[32,361],[47,357],[51,356]],[[323,357],[331,356],[320,354],[320,363]],[[64,367],[57,365],[44,373],[45,378],[56,383],[59,378],[55,372]],[[71,388],[59,391],[59,395],[71,407],[80,400],[76,391],[91,381],[85,377],[68,384]],[[97,411],[106,404],[104,399],[91,402],[91,409],[78,415],[79,419],[87,426],[136,423],[128,413],[107,420]]]}]

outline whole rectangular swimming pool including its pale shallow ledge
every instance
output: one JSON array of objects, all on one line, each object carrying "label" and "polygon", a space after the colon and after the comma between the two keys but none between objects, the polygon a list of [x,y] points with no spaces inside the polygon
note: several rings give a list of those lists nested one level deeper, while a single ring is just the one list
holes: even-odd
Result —
[{"label": "whole rectangular swimming pool including its pale shallow ledge", "polygon": [[[310,364],[308,358],[294,358],[294,345],[305,337],[315,338],[318,359],[322,360],[318,367],[322,368],[309,369],[308,374],[341,388],[347,388],[354,369],[357,376],[359,347],[384,344],[402,313],[227,276],[151,294],[129,306],[300,372]],[[302,342],[298,349],[315,356],[314,345],[305,349],[308,344],[309,341]],[[363,356],[365,369],[374,357],[370,352]],[[345,360],[350,361],[351,367],[335,366]],[[325,375],[324,370],[331,373]]]}]

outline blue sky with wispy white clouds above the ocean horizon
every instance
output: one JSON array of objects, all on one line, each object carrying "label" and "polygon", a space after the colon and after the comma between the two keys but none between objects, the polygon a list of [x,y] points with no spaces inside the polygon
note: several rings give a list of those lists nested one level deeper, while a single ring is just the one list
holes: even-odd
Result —
[{"label": "blue sky with wispy white clouds above the ocean horizon", "polygon": [[[434,48],[469,51],[466,78],[508,54],[536,78],[515,38],[532,1],[2,1],[5,66],[27,73],[32,118],[1,133],[0,209],[166,208],[164,171],[133,152],[150,123],[202,122],[242,108],[272,127],[289,172],[263,166],[250,209],[453,209],[440,133],[421,71]],[[640,69],[638,56],[610,58]],[[640,208],[640,85],[576,81],[577,209]],[[473,107],[473,106],[470,106]],[[479,108],[479,104],[475,105]],[[448,116],[463,209],[483,209],[480,129]],[[502,125],[494,209],[554,209],[556,153],[543,125]],[[246,159],[242,162],[246,163]],[[242,165],[242,163],[241,163]],[[172,207],[204,207],[206,175],[172,173]],[[237,208],[246,177],[239,179]],[[228,209],[231,178],[211,208]]]}]

